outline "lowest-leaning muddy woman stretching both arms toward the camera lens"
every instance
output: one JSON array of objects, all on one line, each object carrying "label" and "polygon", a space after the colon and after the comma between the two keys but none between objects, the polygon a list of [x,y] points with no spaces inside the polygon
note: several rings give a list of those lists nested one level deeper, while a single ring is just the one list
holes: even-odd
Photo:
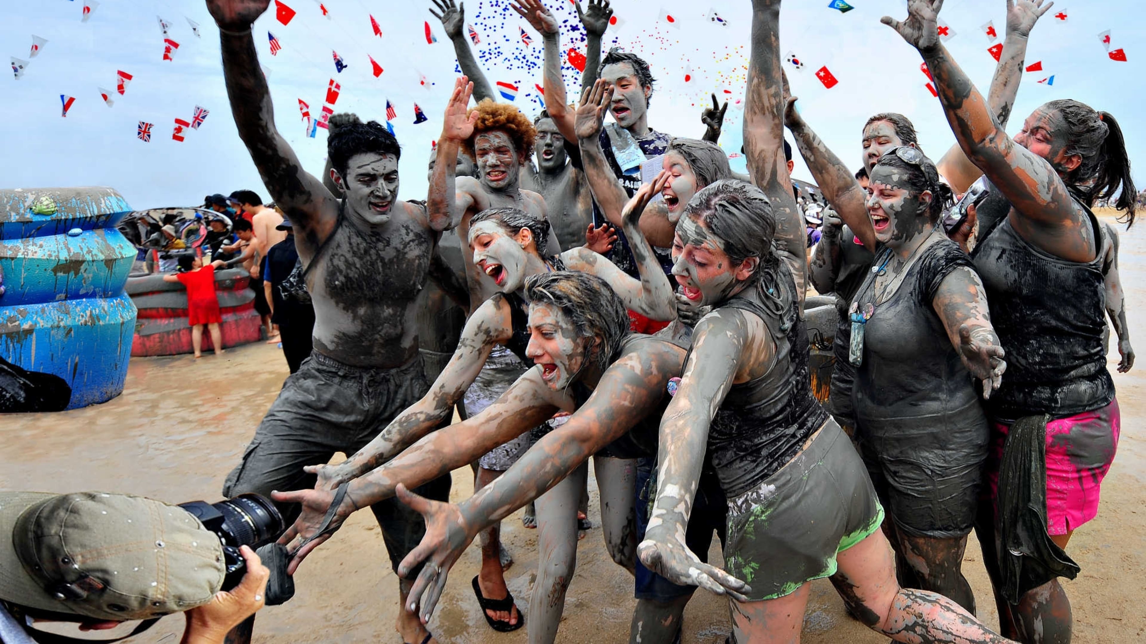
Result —
[{"label": "lowest-leaning muddy woman stretching both arms toward the camera lens", "polygon": [[[423,542],[418,557],[434,548],[442,549],[433,558],[433,574],[416,582],[415,600],[421,598],[421,614],[426,621],[445,586],[446,571],[473,536],[536,498],[540,558],[528,630],[529,642],[537,643],[554,641],[565,590],[573,578],[574,510],[586,476],[581,465],[606,448],[627,455],[656,451],[668,383],[681,374],[684,350],[661,338],[629,333],[623,300],[609,284],[588,273],[532,275],[526,280],[525,298],[529,301],[526,352],[536,367],[480,414],[426,435],[385,465],[344,484],[345,497],[336,505],[331,526],[337,527],[354,510],[364,508],[369,498],[393,496],[398,484],[413,488],[417,481],[432,480],[440,472],[464,466],[482,450],[528,432],[555,413],[571,413],[566,423],[541,437],[502,477],[463,504],[476,510],[454,525],[456,529],[448,536],[444,536],[447,534],[442,532],[444,519],[432,518],[437,532]],[[276,494],[277,498],[300,502],[304,506],[301,518],[286,532],[284,542],[295,539],[292,548],[297,548],[314,536],[336,494],[332,490]],[[550,510],[555,504],[545,503],[550,495],[563,500],[555,511]],[[407,502],[409,498],[406,497]],[[629,489],[620,501],[631,509],[631,500]],[[463,532],[469,536],[463,536]],[[297,557],[305,556],[325,537],[311,541]],[[631,547],[628,556],[633,556]],[[414,565],[402,570],[414,570]],[[414,605],[407,608],[416,610]]]}]

